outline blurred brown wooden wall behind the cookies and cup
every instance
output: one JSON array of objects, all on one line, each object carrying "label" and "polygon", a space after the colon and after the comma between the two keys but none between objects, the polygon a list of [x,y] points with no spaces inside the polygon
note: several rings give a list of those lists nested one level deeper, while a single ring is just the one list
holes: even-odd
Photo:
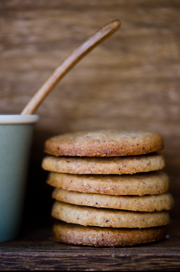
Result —
[{"label": "blurred brown wooden wall behind the cookies and cup", "polygon": [[20,113],[63,59],[110,20],[122,27],[62,80],[38,109],[24,222],[48,224],[51,188],[41,170],[52,135],[99,128],[163,134],[180,214],[180,2],[7,0],[0,2],[0,113]]}]

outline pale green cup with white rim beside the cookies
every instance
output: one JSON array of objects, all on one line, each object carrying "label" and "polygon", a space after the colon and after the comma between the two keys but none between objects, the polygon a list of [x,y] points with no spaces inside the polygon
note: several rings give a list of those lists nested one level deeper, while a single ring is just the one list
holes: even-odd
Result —
[{"label": "pale green cup with white rim beside the cookies", "polygon": [[0,115],[0,242],[18,234],[38,115]]}]

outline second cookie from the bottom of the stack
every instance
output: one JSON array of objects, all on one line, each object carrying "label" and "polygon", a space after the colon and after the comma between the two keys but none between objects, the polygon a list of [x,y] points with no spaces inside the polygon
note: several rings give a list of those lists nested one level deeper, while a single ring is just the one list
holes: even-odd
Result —
[{"label": "second cookie from the bottom of the stack", "polygon": [[170,222],[169,213],[166,211],[134,212],[79,206],[60,201],[54,203],[52,216],[68,223],[113,228],[148,228]]}]

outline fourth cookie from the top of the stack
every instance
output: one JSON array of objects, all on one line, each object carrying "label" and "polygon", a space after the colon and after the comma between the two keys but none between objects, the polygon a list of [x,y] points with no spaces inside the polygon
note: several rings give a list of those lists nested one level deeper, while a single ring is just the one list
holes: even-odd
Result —
[{"label": "fourth cookie from the top of the stack", "polygon": [[159,195],[103,195],[55,188],[52,197],[66,203],[93,207],[154,212],[170,210],[173,207],[173,197],[170,193]]}]

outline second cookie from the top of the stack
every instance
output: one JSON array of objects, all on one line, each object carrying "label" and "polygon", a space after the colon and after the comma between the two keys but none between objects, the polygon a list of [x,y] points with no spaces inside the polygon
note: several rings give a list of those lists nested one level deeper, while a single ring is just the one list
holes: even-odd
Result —
[{"label": "second cookie from the top of the stack", "polygon": [[55,157],[43,159],[42,168],[70,174],[133,174],[162,169],[164,158],[156,153],[125,157]]}]

